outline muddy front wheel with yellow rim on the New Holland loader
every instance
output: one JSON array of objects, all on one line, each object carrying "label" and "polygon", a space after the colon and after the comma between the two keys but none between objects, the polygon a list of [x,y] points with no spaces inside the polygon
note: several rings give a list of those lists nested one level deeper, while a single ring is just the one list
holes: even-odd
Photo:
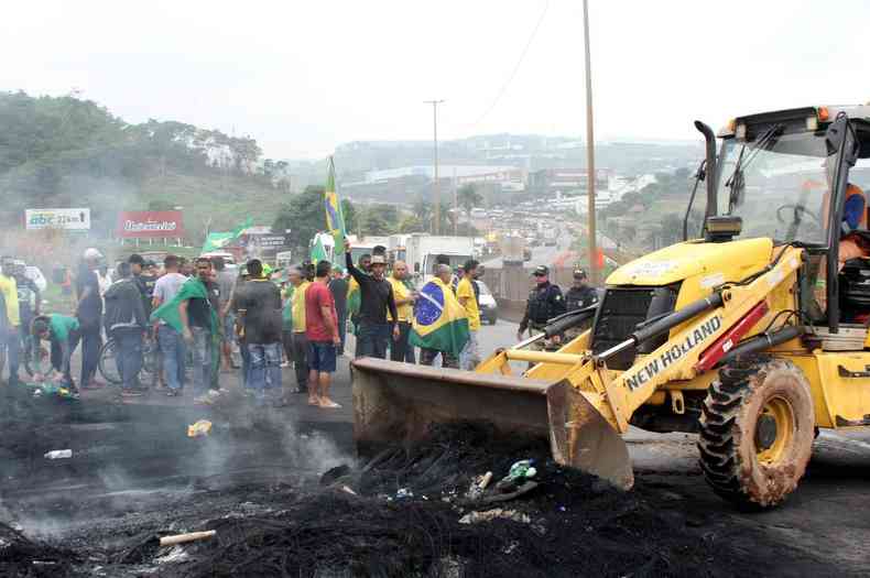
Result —
[{"label": "muddy front wheel with yellow rim on the New Holland loader", "polygon": [[791,361],[753,357],[719,371],[700,416],[700,467],[714,491],[771,508],[797,487],[813,450],[809,383]]}]

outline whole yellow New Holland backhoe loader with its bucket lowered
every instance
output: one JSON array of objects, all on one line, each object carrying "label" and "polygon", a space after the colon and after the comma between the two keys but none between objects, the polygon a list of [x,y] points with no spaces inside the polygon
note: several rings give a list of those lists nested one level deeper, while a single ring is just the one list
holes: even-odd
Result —
[{"label": "whole yellow New Holland backhoe loader with its bucket lowered", "polygon": [[[870,247],[852,198],[870,185],[870,106],[739,117],[718,146],[695,126],[706,209],[693,192],[683,242],[621,266],[598,307],[475,372],[356,360],[360,449],[481,419],[546,436],[558,462],[630,488],[630,425],[694,432],[713,489],[765,508],[796,488],[818,428],[870,425],[870,263],[840,259]],[[558,351],[526,349],[590,317]]]}]

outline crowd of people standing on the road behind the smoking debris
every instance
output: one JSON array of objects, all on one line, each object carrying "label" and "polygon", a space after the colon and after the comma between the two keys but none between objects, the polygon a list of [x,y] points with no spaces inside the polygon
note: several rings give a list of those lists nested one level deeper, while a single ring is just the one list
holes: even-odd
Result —
[{"label": "crowd of people standing on the road behind the smoking debris", "polygon": [[[454,348],[415,340],[417,304],[432,298],[417,290],[404,262],[393,262],[388,272],[385,250],[376,248],[354,263],[346,243],[345,264],[347,274],[328,261],[294,265],[276,283],[269,265],[257,259],[237,269],[220,257],[188,261],[168,254],[157,265],[133,254],[110,275],[102,254],[88,249],[70,281],[75,305],[66,316],[43,315],[39,288],[23,266],[3,258],[0,372],[8,362],[10,382],[19,379],[21,348],[32,347],[32,336],[37,346],[40,340],[51,342],[51,369],[36,379],[62,383],[75,394],[105,386],[97,368],[106,336],[115,342],[123,396],[148,390],[140,381],[148,349],[155,352],[155,368],[150,368],[157,374],[155,389],[170,397],[189,391],[195,402],[211,403],[222,392],[219,373],[238,370],[243,391],[258,403],[282,406],[297,393],[311,405],[335,408],[339,405],[330,397],[330,386],[348,327],[356,337],[357,358],[389,357],[463,370],[474,370],[481,361],[477,279],[482,266],[477,261],[468,260],[455,272],[449,259],[439,255],[428,282],[444,302],[439,310],[454,307],[467,323],[465,339]],[[581,270],[575,271],[567,299],[547,273],[546,268],[535,270],[537,284],[521,332],[535,332],[545,318],[597,299]],[[76,382],[70,358],[79,343]],[[282,367],[291,366],[294,378],[284,380]]]}]

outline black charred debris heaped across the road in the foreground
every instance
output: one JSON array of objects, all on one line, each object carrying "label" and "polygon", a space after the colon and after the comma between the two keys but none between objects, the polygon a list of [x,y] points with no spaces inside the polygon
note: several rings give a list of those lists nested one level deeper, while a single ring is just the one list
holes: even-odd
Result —
[{"label": "black charred debris heaped across the road in the foreground", "polygon": [[[43,479],[42,452],[68,436],[64,422],[106,414],[131,418],[94,404],[89,413],[59,416],[53,407],[55,419],[48,423],[41,421],[45,406],[8,402],[0,408],[0,427],[12,435],[0,439],[0,451],[20,458],[11,464],[31,464],[30,470],[15,470],[28,479]],[[106,444],[129,435],[85,430]],[[259,437],[270,447],[279,433],[267,421],[240,426],[226,439]],[[165,451],[172,444],[163,439],[159,447]],[[181,464],[202,469],[204,455],[180,456],[165,465],[166,473],[177,473]],[[304,456],[287,458],[287,467],[304,469]],[[90,472],[106,466],[99,455],[91,458]],[[20,522],[25,531],[0,526],[0,543],[12,545],[0,547],[0,576],[697,578],[770,576],[777,563],[768,554],[789,553],[787,546],[765,543],[761,533],[717,522],[715,514],[683,512],[679,497],[667,488],[641,479],[633,491],[622,492],[554,464],[546,444],[499,439],[480,424],[442,426],[424,444],[388,447],[323,476],[257,469],[249,459],[246,455],[241,464],[250,468],[235,477],[200,475],[178,482],[175,476],[148,491],[83,487],[45,498],[4,478],[0,522]],[[530,459],[537,470],[534,484],[500,492],[498,481],[511,466]],[[472,481],[489,471],[491,483],[469,497]],[[75,469],[68,473],[72,481],[85,479],[75,478]],[[78,473],[84,476],[84,468]],[[160,536],[211,530],[210,539],[159,546]],[[802,564],[807,571],[818,568]]]}]

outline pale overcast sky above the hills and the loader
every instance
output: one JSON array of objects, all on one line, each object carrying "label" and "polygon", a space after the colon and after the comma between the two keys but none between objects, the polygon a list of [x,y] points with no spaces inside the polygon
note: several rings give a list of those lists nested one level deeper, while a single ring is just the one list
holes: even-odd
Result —
[{"label": "pale overcast sky above the hills and the loader", "polygon": [[[598,139],[870,100],[866,0],[590,0],[590,19]],[[78,89],[272,157],[428,139],[432,98],[445,139],[586,130],[580,0],[8,0],[0,53],[2,90]]]}]

